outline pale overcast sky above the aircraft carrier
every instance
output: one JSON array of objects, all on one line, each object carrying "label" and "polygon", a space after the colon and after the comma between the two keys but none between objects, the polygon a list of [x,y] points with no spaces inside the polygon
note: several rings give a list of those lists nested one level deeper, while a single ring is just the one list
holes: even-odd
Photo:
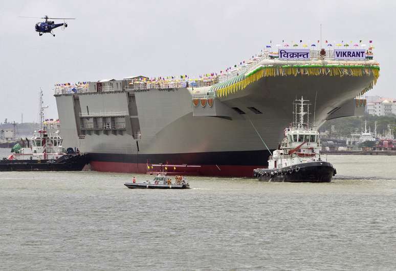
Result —
[{"label": "pale overcast sky above the aircraft carrier", "polygon": [[[396,97],[394,1],[1,1],[0,122],[38,119],[38,91],[57,117],[55,83],[217,72],[272,40],[373,40],[381,65],[369,95]],[[40,19],[76,17],[55,37]],[[61,21],[60,21],[61,22]],[[71,111],[72,112],[72,111]]]}]

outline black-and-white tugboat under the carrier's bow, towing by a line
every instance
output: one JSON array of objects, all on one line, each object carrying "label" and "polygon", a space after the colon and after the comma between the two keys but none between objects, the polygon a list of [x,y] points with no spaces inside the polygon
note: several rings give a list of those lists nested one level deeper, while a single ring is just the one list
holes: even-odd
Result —
[{"label": "black-and-white tugboat under the carrier's bow, towing by a line", "polygon": [[[331,182],[337,170],[320,158],[319,132],[310,126],[309,100],[296,100],[294,122],[284,130],[278,150],[268,160],[268,168],[256,168],[253,176],[268,182]],[[306,108],[306,109],[305,109]],[[306,111],[305,111],[306,110]]]}]

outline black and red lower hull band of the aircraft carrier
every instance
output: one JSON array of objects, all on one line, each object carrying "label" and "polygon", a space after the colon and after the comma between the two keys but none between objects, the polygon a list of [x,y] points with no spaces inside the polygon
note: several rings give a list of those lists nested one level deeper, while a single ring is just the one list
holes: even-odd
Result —
[{"label": "black and red lower hull band of the aircraft carrier", "polygon": [[269,152],[258,150],[135,155],[89,153],[89,157],[91,168],[96,171],[140,174],[166,171],[169,175],[252,178],[253,169],[267,167]]}]

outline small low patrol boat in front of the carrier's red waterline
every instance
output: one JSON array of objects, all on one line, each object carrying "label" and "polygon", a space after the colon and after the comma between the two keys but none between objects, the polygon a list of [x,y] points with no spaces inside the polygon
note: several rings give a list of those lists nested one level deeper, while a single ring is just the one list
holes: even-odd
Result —
[{"label": "small low patrol boat in front of the carrier's red waterline", "polygon": [[152,181],[147,180],[137,183],[135,177],[131,183],[124,184],[128,188],[150,188],[150,189],[189,189],[190,185],[184,176],[174,176],[174,181],[169,176],[158,174]]}]

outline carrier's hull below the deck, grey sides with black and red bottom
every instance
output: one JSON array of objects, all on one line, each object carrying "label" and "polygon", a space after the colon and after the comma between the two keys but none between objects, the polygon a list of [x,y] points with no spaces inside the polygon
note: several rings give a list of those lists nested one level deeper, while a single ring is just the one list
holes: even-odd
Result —
[{"label": "carrier's hull below the deck, grey sides with black and red bottom", "polygon": [[[146,173],[167,164],[170,173],[251,177],[254,168],[267,166],[270,155],[260,137],[271,152],[277,148],[296,97],[316,101],[315,123],[320,126],[363,111],[354,98],[372,81],[372,74],[261,78],[216,98],[212,108],[191,102],[193,92],[206,93],[208,87],[55,96],[64,144],[89,153],[94,170]],[[125,129],[83,130],[82,122],[93,112],[127,112]],[[113,121],[107,119],[100,117],[100,124]],[[134,135],[137,129],[141,138]]]}]

